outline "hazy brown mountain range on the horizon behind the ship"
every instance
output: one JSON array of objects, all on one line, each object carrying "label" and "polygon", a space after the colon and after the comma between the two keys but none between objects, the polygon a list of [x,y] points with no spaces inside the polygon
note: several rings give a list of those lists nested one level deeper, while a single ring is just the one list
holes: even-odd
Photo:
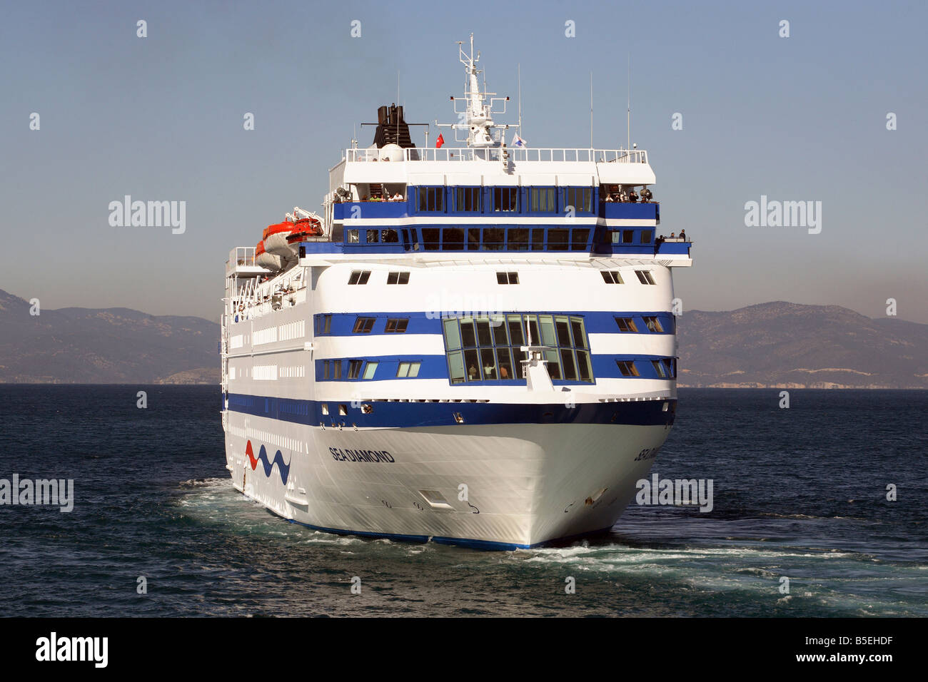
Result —
[{"label": "hazy brown mountain range on the horizon behind the ship", "polygon": [[[218,383],[219,325],[128,308],[59,308],[0,290],[0,383]],[[928,388],[928,325],[768,302],[677,317],[678,385]]]}]

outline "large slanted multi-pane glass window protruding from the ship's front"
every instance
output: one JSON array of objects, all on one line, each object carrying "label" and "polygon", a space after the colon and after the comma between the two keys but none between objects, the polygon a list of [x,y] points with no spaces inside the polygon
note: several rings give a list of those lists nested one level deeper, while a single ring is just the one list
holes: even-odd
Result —
[{"label": "large slanted multi-pane glass window protruding from the ship's front", "polygon": [[472,315],[445,319],[451,383],[522,378],[522,346],[545,345],[553,380],[592,381],[589,341],[576,315]]}]

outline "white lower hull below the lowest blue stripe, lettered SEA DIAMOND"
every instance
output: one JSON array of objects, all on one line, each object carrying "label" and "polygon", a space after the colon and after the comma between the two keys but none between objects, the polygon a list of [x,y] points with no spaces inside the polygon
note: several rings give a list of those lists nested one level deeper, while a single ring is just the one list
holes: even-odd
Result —
[{"label": "white lower hull below the lowest blue stripe, lettered SEA DIAMOND", "polygon": [[[610,528],[669,431],[615,424],[354,431],[281,428],[240,415],[230,427],[233,484],[285,519],[327,532],[487,548]],[[270,433],[291,448],[265,443],[261,435]]]}]

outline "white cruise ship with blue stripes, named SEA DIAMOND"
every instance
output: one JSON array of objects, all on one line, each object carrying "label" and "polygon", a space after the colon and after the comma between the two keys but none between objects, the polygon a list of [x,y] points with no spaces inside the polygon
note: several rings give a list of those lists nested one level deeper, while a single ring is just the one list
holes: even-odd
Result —
[{"label": "white cruise ship with blue stripes, named SEA DIAMOND", "polygon": [[380,107],[319,212],[230,252],[226,468],[328,533],[516,549],[606,531],[674,423],[691,244],[658,235],[646,151],[529,147],[495,121],[511,104],[472,36],[458,58],[432,146]]}]

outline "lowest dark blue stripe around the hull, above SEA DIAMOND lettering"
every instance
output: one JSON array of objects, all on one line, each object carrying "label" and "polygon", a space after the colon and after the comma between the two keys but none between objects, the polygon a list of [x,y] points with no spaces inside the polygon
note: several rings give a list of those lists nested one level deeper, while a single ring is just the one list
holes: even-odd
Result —
[{"label": "lowest dark blue stripe around the hull, above SEA DIAMOND lettering", "polygon": [[[566,395],[564,396],[566,397]],[[664,411],[664,403],[669,403]],[[320,405],[329,405],[323,415]],[[632,401],[627,403],[563,403],[525,405],[513,403],[392,403],[366,401],[372,410],[364,414],[361,406],[338,401],[297,400],[270,396],[229,394],[229,410],[254,417],[289,421],[307,426],[354,425],[358,428],[408,429],[415,427],[483,424],[616,424],[627,426],[670,426],[674,423],[677,400]],[[339,416],[339,405],[348,414]],[[458,422],[455,414],[463,421]]]}]

